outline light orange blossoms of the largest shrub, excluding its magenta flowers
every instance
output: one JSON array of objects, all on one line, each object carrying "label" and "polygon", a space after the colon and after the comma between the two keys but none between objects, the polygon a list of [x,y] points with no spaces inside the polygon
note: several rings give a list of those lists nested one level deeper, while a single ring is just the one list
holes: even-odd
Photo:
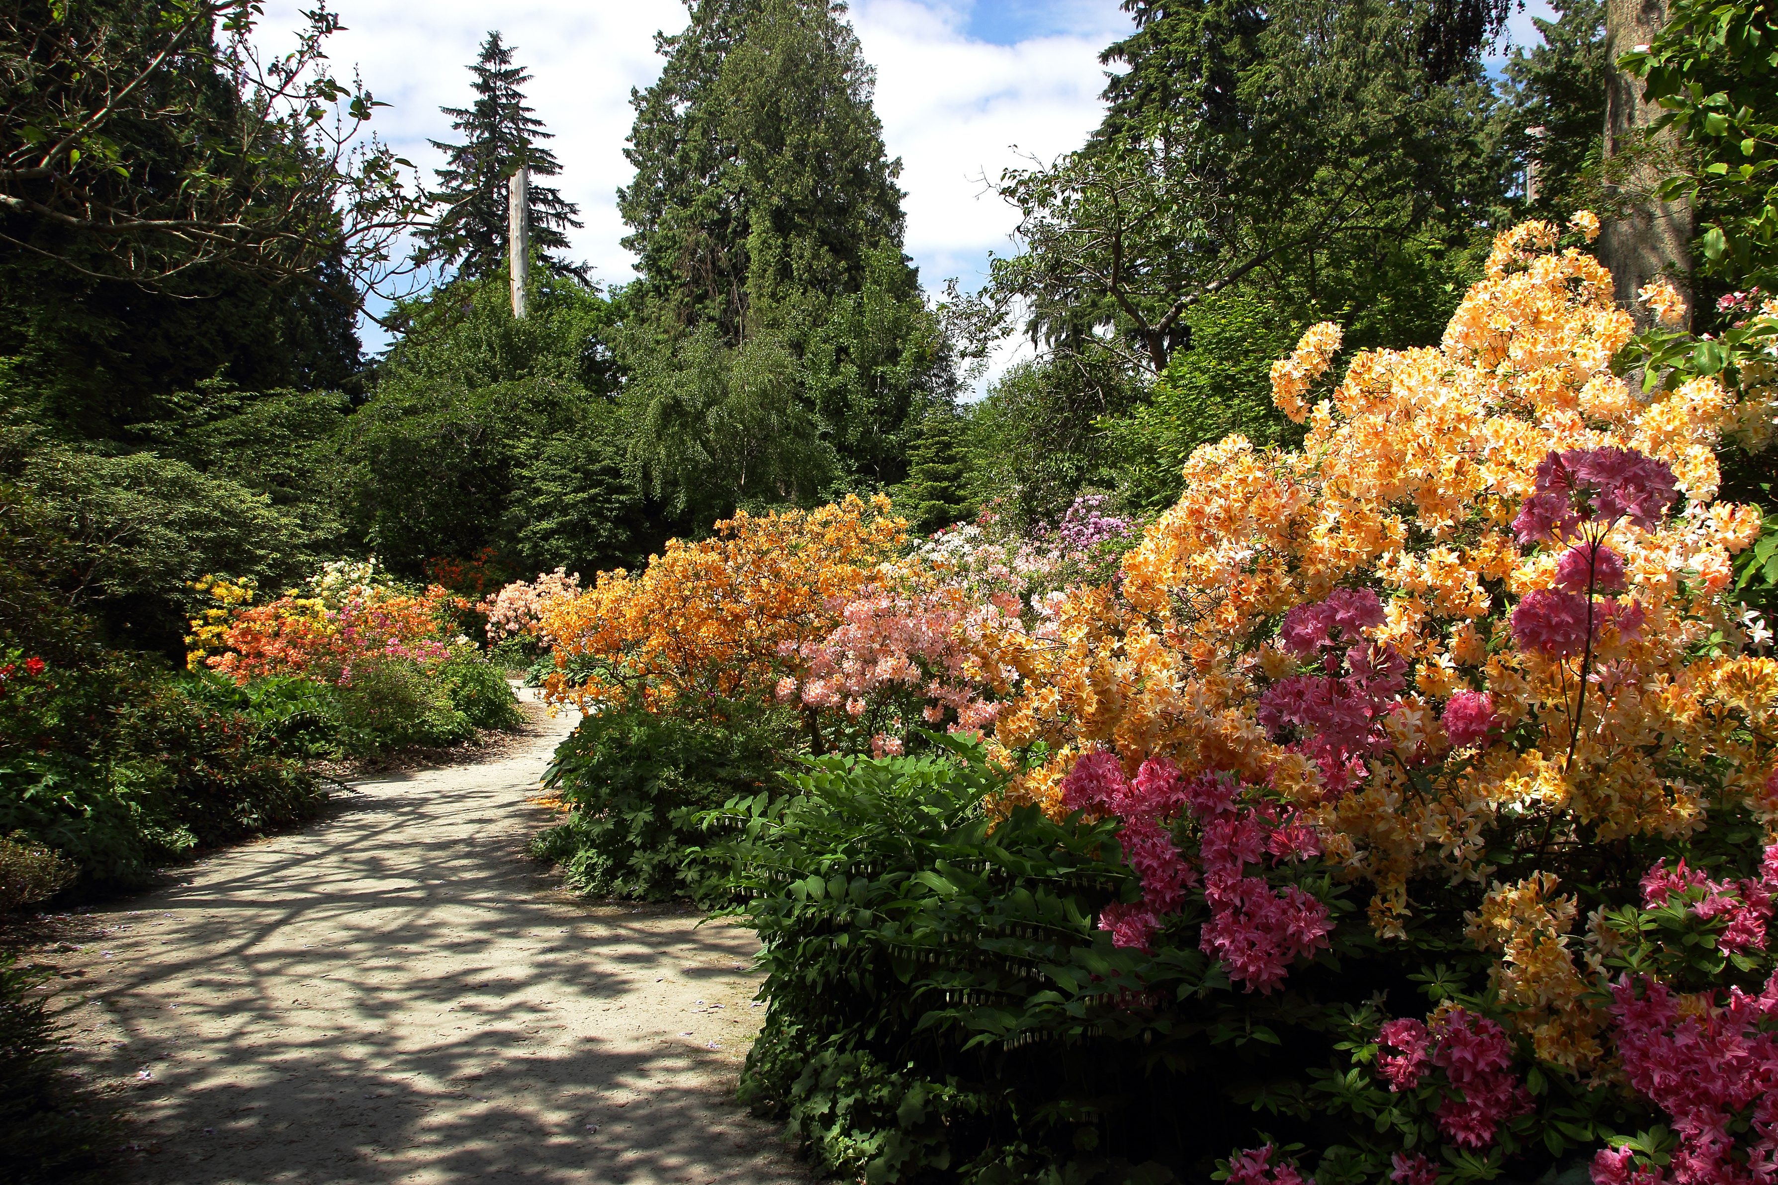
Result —
[{"label": "light orange blossoms of the largest shrub, excluding its magenta flowers", "polygon": [[[1597,220],[1574,226],[1590,238]],[[1755,652],[1725,595],[1760,513],[1714,501],[1714,446],[1742,409],[1712,380],[1645,394],[1614,377],[1630,318],[1609,272],[1561,249],[1561,235],[1547,222],[1502,235],[1440,346],[1360,354],[1312,409],[1301,396],[1339,332],[1310,329],[1273,373],[1278,405],[1310,425],[1301,449],[1245,437],[1200,448],[1117,590],[1074,590],[1049,606],[1051,629],[985,640],[983,666],[1021,677],[997,744],[1042,741],[1053,755],[1015,782],[1013,801],[1060,814],[1063,776],[1101,748],[1125,773],[1147,757],[1188,778],[1234,773],[1298,807],[1341,872],[1374,887],[1382,934],[1405,933],[1415,879],[1486,885],[1488,831],[1550,849],[1684,837],[1719,803],[1750,803],[1778,830],[1778,663]],[[1584,656],[1517,645],[1511,625],[1527,593],[1556,588],[1577,540],[1513,535],[1540,464],[1568,449],[1634,449],[1678,487],[1675,513],[1609,526],[1625,597],[1597,604],[1645,616],[1622,631],[1602,616]],[[1362,776],[1339,785],[1259,711],[1269,689],[1321,670],[1282,645],[1280,618],[1337,590],[1351,604],[1376,595],[1360,648],[1399,661],[1403,680]],[[1478,732],[1447,736],[1458,716]],[[1566,959],[1554,915],[1495,913],[1483,931],[1506,952],[1502,986],[1542,1000],[1538,1023],[1568,1014],[1549,988],[1568,982],[1550,966]],[[1538,1043],[1584,1061],[1588,1023]]]}]

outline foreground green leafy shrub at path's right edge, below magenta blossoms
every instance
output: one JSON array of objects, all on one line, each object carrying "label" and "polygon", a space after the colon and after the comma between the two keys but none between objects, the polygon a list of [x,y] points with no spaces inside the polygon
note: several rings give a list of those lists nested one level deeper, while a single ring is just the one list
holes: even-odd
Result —
[{"label": "foreground green leafy shrub at path's right edge, below magenta blossoms", "polygon": [[1182,1066],[1140,1034],[1218,972],[1093,929],[1138,892],[1109,823],[1019,808],[990,826],[999,778],[981,750],[926,739],[923,757],[807,760],[793,794],[702,815],[733,828],[704,858],[763,942],[770,1011],[743,1100],[866,1181],[1175,1180],[1099,1148],[1189,1160],[1191,1133],[1216,1126],[1214,1107],[1193,1110],[1209,1091],[1157,1082]]}]

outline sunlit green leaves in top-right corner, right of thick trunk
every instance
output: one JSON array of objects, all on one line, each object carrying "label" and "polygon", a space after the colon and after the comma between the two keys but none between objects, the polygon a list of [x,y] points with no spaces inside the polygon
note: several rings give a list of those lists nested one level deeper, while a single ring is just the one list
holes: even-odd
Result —
[{"label": "sunlit green leaves in top-right corner, right of thick trunk", "polygon": [[1778,290],[1778,7],[1771,0],[1671,0],[1668,25],[1620,66],[1646,80],[1693,167],[1662,185],[1703,211],[1705,270]]}]

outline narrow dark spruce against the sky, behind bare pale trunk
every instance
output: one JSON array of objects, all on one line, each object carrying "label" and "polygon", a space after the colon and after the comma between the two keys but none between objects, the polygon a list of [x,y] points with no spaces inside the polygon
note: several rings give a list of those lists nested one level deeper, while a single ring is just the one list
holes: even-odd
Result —
[{"label": "narrow dark spruce against the sky, behind bare pale trunk", "polygon": [[521,87],[532,76],[512,64],[512,46],[503,44],[500,32],[489,32],[482,43],[482,57],[469,68],[477,99],[469,107],[441,107],[452,117],[452,130],[462,133],[462,144],[432,140],[448,155],[443,169],[436,169],[439,190],[434,197],[446,203],[444,213],[420,231],[420,258],[428,263],[461,261],[469,277],[487,275],[500,268],[507,256],[507,201],[514,171],[530,165],[530,227],[532,245],[544,252],[555,270],[573,270],[548,252],[564,251],[565,229],[578,229],[574,217],[580,208],[564,201],[562,192],[537,185],[535,178],[555,178],[562,165],[555,153],[539,140],[555,139],[544,131],[533,108],[525,105]]}]

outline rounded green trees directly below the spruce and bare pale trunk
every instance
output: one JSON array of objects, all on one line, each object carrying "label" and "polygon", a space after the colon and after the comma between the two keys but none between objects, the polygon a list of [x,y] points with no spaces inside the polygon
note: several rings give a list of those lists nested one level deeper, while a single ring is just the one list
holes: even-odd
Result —
[{"label": "rounded green trees directly below the spruce and bare pale trunk", "polygon": [[356,529],[391,570],[494,547],[516,567],[592,572],[647,554],[610,396],[615,311],[573,275],[512,318],[500,277],[400,309],[407,327],[352,416]]}]

